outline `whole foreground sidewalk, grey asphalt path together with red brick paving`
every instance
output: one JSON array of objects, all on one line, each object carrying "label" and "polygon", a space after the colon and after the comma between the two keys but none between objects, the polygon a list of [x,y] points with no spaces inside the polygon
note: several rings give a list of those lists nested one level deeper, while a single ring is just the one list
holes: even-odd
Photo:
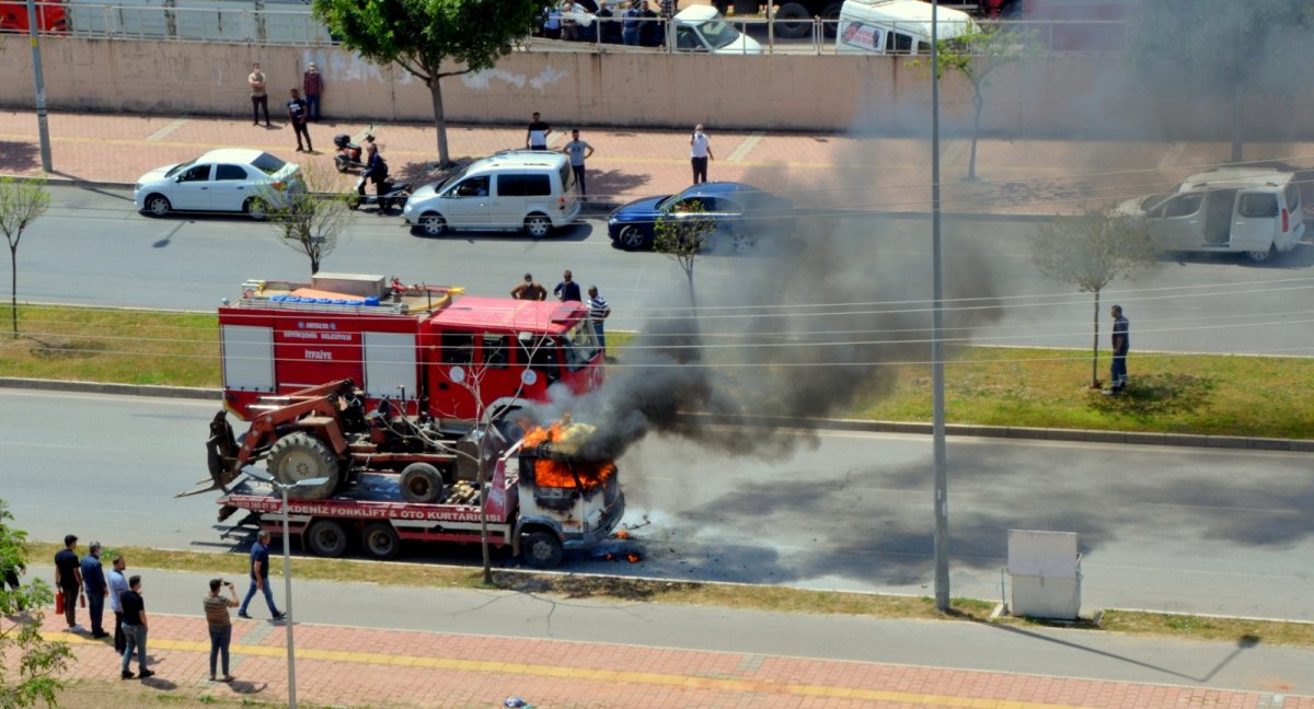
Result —
[{"label": "whole foreground sidewalk, grey asphalt path together with red brick paving", "polygon": [[[285,697],[285,626],[265,620],[259,599],[256,620],[234,621],[238,681],[212,684],[200,613],[208,575],[131,559],[129,569],[143,578],[152,618],[147,650],[159,674],[148,687]],[[286,611],[283,579],[275,596]],[[1263,641],[315,580],[297,580],[294,600],[297,695],[321,705],[473,708],[519,696],[540,709],[1314,709],[1314,650]],[[78,617],[85,624],[85,609]],[[63,632],[53,613],[45,629],[75,649],[72,677],[120,681],[109,643]]]}]

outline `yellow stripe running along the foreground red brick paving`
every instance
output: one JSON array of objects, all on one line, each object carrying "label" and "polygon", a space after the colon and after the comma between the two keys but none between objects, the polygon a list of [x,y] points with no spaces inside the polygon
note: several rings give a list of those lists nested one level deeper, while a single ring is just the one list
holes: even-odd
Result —
[{"label": "yellow stripe running along the foreground red brick paving", "polygon": [[[102,647],[99,639],[83,635],[68,635],[49,630],[50,639],[68,645]],[[183,639],[151,638],[155,650],[176,650],[209,655],[210,643]],[[285,658],[283,646],[233,645],[229,651],[237,656]],[[823,684],[781,683],[770,679],[728,679],[706,675],[679,675],[674,672],[640,672],[635,670],[606,670],[594,667],[562,667],[557,664],[531,664],[505,660],[480,660],[456,658],[428,658],[417,655],[392,655],[388,653],[364,653],[351,650],[322,650],[297,647],[298,660],[348,662],[356,664],[390,664],[422,667],[427,670],[449,670],[459,672],[510,674],[520,676],[578,679],[582,681],[612,681],[628,685],[646,684],[658,687],[685,687],[690,689],[711,689],[721,692],[753,692],[763,695],[786,695],[800,697],[836,697],[865,701],[901,702],[917,706],[962,706],[971,709],[1080,709],[1077,704],[1049,704],[1004,698],[967,697],[950,695],[924,695],[920,692],[899,692],[886,689],[866,689],[862,687],[830,687]],[[834,660],[840,662],[840,660]],[[879,663],[871,663],[879,664]],[[958,670],[959,672],[974,672]]]}]

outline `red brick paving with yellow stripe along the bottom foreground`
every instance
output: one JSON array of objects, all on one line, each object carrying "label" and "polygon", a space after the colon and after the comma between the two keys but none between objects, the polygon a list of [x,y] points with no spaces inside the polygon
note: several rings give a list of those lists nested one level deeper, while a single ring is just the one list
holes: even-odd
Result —
[{"label": "red brick paving with yellow stripe along the bottom foreground", "polygon": [[[120,681],[108,641],[62,625],[49,614],[45,630],[72,645],[72,677]],[[288,688],[284,641],[281,625],[237,620],[238,680],[210,683],[204,618],[151,613],[148,666],[158,674],[143,683],[279,702]],[[296,649],[298,700],[338,706],[501,706],[519,696],[540,709],[1314,709],[1314,697],[1197,687],[306,624],[296,626]]]}]

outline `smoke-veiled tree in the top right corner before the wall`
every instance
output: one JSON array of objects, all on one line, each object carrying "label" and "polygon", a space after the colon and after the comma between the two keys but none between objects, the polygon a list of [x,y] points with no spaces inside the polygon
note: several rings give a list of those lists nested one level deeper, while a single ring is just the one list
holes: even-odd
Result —
[{"label": "smoke-veiled tree in the top right corner before the wall", "polygon": [[1314,39],[1314,3],[1152,0],[1139,8],[1129,47],[1139,76],[1152,92],[1230,106],[1231,160],[1242,161],[1247,95],[1290,95],[1294,58]]}]

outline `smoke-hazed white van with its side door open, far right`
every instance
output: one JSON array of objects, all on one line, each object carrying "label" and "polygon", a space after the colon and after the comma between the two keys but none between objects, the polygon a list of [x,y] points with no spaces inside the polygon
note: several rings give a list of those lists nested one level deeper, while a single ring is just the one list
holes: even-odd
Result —
[{"label": "smoke-hazed white van with its side door open, far right", "polygon": [[1305,235],[1301,186],[1290,172],[1223,168],[1187,177],[1176,192],[1129,200],[1163,251],[1221,251],[1267,261]]}]

